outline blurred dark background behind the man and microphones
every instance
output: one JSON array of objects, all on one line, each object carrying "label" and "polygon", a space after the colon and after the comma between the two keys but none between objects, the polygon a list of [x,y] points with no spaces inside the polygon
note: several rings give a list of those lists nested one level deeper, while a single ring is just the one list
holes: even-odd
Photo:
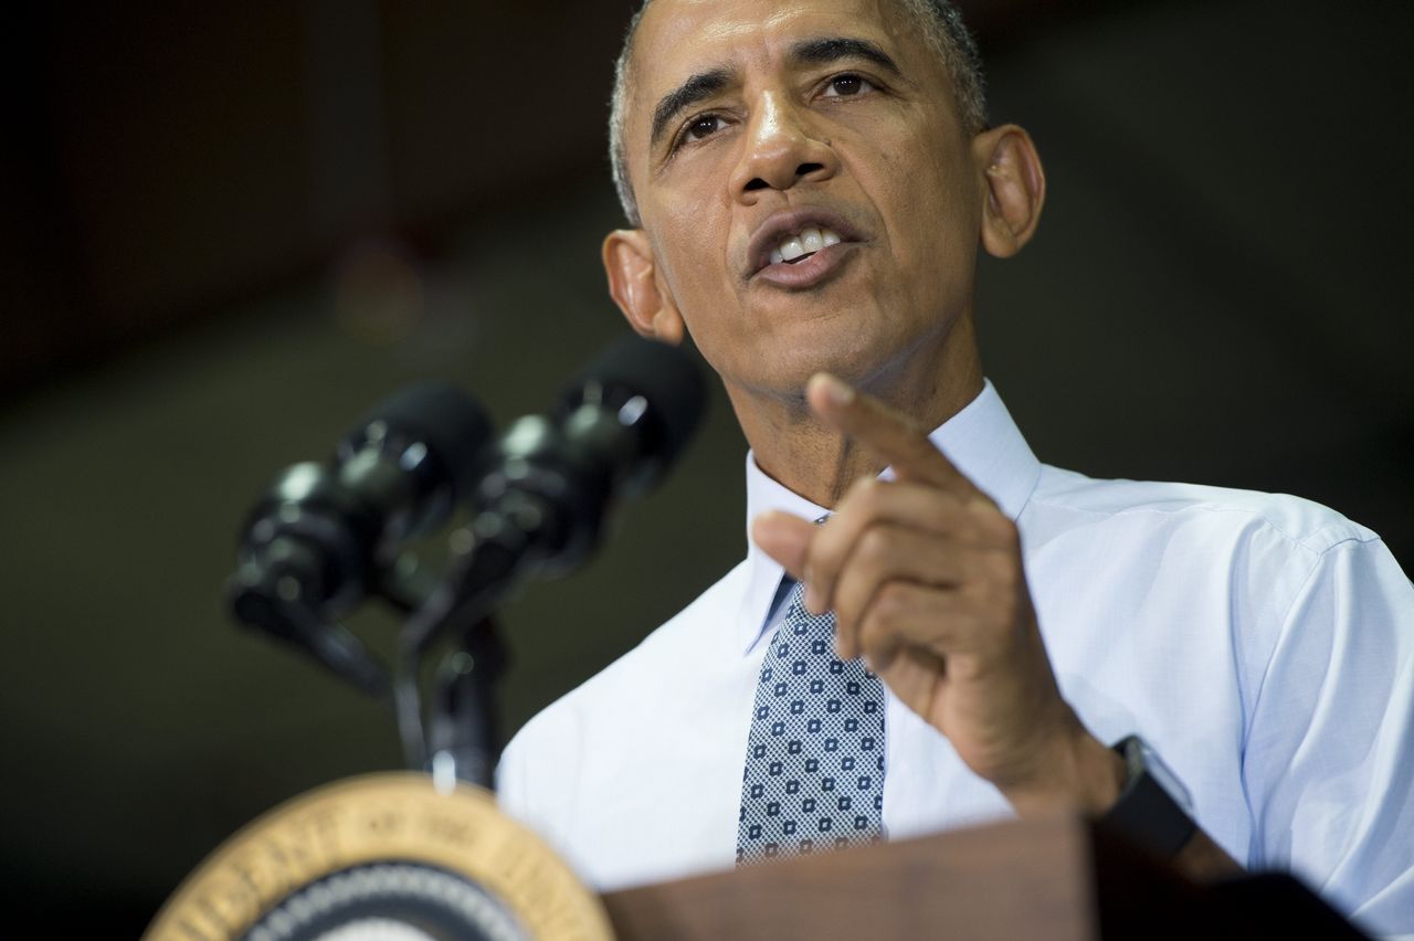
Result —
[{"label": "blurred dark background behind the man and microphones", "polygon": [[[980,288],[987,372],[1035,451],[1309,496],[1408,568],[1410,6],[963,6],[994,117],[1049,171],[1039,239]],[[399,384],[454,379],[505,422],[624,329],[598,242],[629,8],[11,10],[7,914],[136,935],[262,811],[397,766],[376,704],[229,623],[236,527]],[[506,606],[508,732],[742,552],[745,445],[713,407],[597,561]],[[355,622],[375,644],[393,625]]]}]

